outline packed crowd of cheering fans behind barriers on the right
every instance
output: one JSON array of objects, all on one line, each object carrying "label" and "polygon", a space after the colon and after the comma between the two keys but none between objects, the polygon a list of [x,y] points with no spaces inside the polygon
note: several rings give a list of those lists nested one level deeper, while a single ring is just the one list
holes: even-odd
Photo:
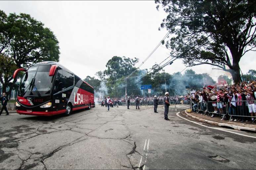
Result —
[{"label": "packed crowd of cheering fans behind barriers on the right", "polygon": [[212,113],[211,117],[219,115],[230,121],[254,122],[255,100],[256,81],[234,85],[209,85],[192,94],[192,110],[206,111],[208,108],[208,112]]}]

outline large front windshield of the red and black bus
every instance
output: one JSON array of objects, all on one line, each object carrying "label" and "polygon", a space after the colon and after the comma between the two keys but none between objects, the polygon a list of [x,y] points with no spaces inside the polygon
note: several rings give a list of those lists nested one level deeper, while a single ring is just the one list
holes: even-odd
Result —
[{"label": "large front windshield of the red and black bus", "polygon": [[19,96],[50,95],[53,76],[49,76],[51,65],[31,67],[27,70],[19,87]]}]

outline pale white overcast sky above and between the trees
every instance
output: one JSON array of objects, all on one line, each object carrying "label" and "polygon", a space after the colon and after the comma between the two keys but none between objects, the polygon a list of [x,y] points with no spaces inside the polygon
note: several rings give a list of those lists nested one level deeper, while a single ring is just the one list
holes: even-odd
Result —
[{"label": "pale white overcast sky above and between the trees", "polygon": [[[59,41],[60,63],[82,79],[105,70],[112,56],[137,57],[139,66],[167,33],[158,30],[166,13],[155,7],[154,1],[0,1],[6,14],[26,13],[50,28]],[[163,61],[170,53],[164,47],[161,45],[141,69]],[[248,52],[241,59],[244,74],[255,69],[255,54]],[[182,61],[176,60],[164,69],[172,74],[184,68]],[[227,74],[212,68],[192,67],[214,80]]]}]

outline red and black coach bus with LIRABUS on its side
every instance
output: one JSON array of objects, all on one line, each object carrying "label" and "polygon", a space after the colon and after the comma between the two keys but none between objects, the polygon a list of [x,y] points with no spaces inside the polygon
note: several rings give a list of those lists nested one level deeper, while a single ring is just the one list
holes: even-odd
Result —
[{"label": "red and black coach bus with LIRABUS on its side", "polygon": [[53,116],[95,107],[94,89],[74,73],[54,61],[44,61],[28,70],[21,79],[16,111],[22,115]]}]

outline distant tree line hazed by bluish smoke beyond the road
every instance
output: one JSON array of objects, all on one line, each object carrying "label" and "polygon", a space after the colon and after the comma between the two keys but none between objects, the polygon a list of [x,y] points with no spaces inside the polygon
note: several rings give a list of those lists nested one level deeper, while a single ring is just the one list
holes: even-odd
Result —
[{"label": "distant tree line hazed by bluish smoke beyond the road", "polygon": [[[124,59],[128,60],[125,61]],[[94,82],[98,82],[98,84],[99,82],[105,82],[106,95],[111,97],[124,97],[125,88],[127,88],[128,96],[142,96],[143,94],[149,96],[148,90],[141,90],[141,85],[148,84],[152,85],[151,95],[161,96],[165,93],[165,89],[171,95],[184,95],[186,94],[185,86],[187,85],[194,89],[200,89],[204,85],[214,85],[216,83],[209,74],[196,74],[192,69],[186,70],[184,74],[180,72],[168,74],[163,69],[158,70],[157,65],[153,65],[151,69],[158,70],[154,74],[146,74],[148,69],[134,71],[135,62],[137,62],[135,59],[113,56],[108,60],[106,70],[96,73],[101,80],[95,80],[94,77],[90,76],[87,76],[84,80],[93,86],[96,86]],[[126,69],[126,67],[129,69]],[[132,75],[127,78],[131,73]],[[98,88],[99,90],[101,88]]]}]

